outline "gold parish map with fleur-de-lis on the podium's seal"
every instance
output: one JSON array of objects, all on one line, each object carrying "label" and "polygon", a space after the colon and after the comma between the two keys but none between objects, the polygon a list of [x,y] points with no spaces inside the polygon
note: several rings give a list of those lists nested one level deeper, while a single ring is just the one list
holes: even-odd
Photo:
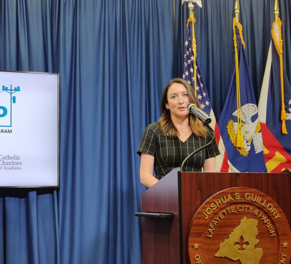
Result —
[{"label": "gold parish map with fleur-de-lis on the podium's seal", "polygon": [[225,239],[219,245],[216,257],[227,257],[234,261],[239,260],[242,264],[259,264],[263,256],[263,249],[256,248],[259,243],[256,239],[258,235],[258,221],[244,217],[240,224],[233,229],[229,239]]}]

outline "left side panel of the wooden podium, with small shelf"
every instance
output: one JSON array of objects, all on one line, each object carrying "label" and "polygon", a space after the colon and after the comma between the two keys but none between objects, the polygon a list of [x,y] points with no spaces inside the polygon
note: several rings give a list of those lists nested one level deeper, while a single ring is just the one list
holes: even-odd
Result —
[{"label": "left side panel of the wooden podium, with small shelf", "polygon": [[142,218],[143,264],[180,263],[178,191],[174,170],[142,194],[142,212],[174,214],[172,219]]}]

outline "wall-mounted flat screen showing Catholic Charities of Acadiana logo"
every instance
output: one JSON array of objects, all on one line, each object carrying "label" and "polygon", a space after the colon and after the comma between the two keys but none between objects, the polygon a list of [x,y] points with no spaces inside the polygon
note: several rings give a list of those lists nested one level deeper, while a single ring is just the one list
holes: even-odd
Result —
[{"label": "wall-mounted flat screen showing Catholic Charities of Acadiana logo", "polygon": [[3,187],[59,187],[59,73],[0,71]]}]

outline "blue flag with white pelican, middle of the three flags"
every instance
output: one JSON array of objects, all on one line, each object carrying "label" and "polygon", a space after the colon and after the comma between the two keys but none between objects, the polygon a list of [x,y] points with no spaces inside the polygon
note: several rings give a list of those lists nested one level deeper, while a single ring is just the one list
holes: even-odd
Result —
[{"label": "blue flag with white pelican, middle of the three flags", "polygon": [[233,19],[235,59],[218,126],[229,171],[266,172],[258,109],[244,49],[242,25]]}]

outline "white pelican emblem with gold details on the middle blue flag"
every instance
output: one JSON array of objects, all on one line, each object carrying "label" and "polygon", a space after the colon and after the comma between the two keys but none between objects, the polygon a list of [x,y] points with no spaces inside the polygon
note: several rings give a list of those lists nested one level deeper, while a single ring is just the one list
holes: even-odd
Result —
[{"label": "white pelican emblem with gold details on the middle blue flag", "polygon": [[[241,107],[240,115],[242,119],[242,131],[243,131],[243,147],[236,147],[236,135],[237,135],[237,122],[229,120],[227,125],[227,132],[232,144],[236,147],[239,153],[243,156],[249,154],[251,149],[251,143],[253,142],[255,153],[263,151],[263,138],[261,132],[261,126],[258,117],[257,106],[253,103],[247,103]],[[237,110],[232,113],[233,116],[237,117]],[[254,117],[256,116],[256,117]],[[252,117],[256,118],[252,121]]]}]

